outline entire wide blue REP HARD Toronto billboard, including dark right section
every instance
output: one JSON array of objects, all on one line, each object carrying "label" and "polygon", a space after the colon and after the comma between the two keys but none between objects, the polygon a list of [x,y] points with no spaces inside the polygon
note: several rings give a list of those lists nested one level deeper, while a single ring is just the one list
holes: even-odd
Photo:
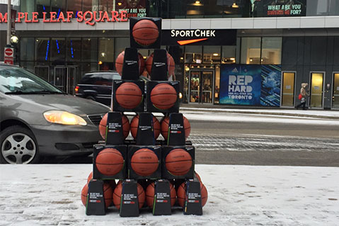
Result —
[{"label": "entire wide blue REP HARD Toronto billboard, including dark right section", "polygon": [[220,104],[280,106],[280,65],[222,64]]}]

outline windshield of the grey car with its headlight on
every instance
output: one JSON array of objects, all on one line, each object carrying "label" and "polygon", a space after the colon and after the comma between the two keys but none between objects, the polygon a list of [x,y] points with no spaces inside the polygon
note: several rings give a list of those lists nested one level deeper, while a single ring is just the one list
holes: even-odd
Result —
[{"label": "windshield of the grey car with its headlight on", "polygon": [[20,67],[0,66],[0,92],[4,94],[64,94],[44,79]]}]

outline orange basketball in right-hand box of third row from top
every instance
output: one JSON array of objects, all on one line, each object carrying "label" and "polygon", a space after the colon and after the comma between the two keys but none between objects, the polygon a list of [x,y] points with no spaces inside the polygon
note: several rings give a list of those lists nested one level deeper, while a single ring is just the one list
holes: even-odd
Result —
[{"label": "orange basketball in right-hand box of third row from top", "polygon": [[161,110],[173,107],[177,98],[176,89],[167,83],[157,84],[151,91],[151,102]]}]

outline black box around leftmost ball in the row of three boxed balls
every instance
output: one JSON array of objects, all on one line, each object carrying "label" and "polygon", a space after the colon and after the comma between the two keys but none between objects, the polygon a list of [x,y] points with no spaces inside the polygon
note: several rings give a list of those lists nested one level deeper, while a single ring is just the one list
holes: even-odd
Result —
[{"label": "black box around leftmost ball in the row of three boxed balls", "polygon": [[[107,148],[117,149],[124,159],[122,169],[115,175],[105,175],[100,173],[96,166],[96,158],[98,154]],[[127,145],[94,145],[93,147],[93,179],[126,179],[127,178]]]}]

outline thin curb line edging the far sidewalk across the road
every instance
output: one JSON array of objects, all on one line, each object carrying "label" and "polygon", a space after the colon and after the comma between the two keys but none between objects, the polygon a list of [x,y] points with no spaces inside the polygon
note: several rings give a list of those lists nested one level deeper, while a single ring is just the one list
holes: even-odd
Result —
[{"label": "thin curb line edging the far sidewalk across the road", "polygon": [[286,113],[286,112],[265,112],[265,111],[237,111],[232,109],[220,109],[220,108],[188,108],[180,107],[183,111],[205,111],[205,112],[224,112],[224,113],[242,113],[242,114],[257,114],[257,115],[284,115],[284,116],[297,116],[303,118],[327,118],[327,119],[339,119],[339,116],[331,115],[307,115],[301,113]]}]

